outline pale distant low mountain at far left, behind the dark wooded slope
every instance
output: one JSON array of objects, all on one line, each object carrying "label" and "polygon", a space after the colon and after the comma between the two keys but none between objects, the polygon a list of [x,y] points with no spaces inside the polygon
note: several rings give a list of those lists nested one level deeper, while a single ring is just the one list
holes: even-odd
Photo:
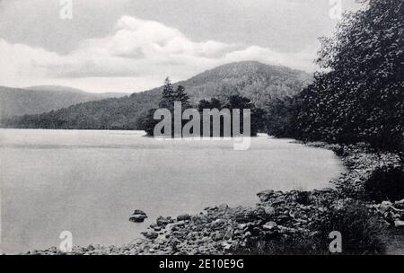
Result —
[{"label": "pale distant low mountain at far left, behind the dark wooded slope", "polygon": [[40,114],[70,105],[122,97],[125,93],[90,93],[65,86],[32,86],[11,88],[0,86],[0,117]]}]

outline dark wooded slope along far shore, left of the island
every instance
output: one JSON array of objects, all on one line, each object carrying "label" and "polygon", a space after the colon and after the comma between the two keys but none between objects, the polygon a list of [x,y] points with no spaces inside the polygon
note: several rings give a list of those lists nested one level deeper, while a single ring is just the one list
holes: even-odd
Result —
[{"label": "dark wooded slope along far shore, left of the island", "polygon": [[129,97],[87,101],[38,115],[0,120],[4,128],[134,130],[138,119],[156,107],[160,94],[139,92]]}]

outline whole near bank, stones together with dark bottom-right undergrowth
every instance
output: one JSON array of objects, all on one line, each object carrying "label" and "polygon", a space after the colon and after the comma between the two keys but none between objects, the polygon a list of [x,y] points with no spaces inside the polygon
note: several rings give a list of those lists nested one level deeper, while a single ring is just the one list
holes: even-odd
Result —
[{"label": "whole near bank, stones together with dark bottom-right undergrowth", "polygon": [[[268,189],[258,193],[255,207],[224,204],[194,216],[160,216],[143,239],[120,247],[75,247],[72,254],[328,254],[332,231],[341,233],[345,254],[389,250],[391,232],[403,233],[404,200],[373,200],[367,181],[377,170],[399,166],[399,157],[358,145],[311,145],[334,150],[347,166],[347,172],[332,181],[333,189]],[[52,248],[33,253],[59,252]]]}]

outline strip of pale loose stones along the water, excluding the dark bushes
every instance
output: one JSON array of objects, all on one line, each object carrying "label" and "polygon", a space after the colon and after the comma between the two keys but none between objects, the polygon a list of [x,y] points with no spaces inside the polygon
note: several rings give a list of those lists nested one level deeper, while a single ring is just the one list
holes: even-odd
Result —
[{"label": "strip of pale loose stones along the water, excluding the dark bushes", "polygon": [[[395,154],[372,153],[365,146],[310,144],[329,148],[341,157],[347,172],[331,181],[329,189],[289,192],[271,189],[258,193],[255,207],[206,207],[198,215],[176,218],[159,216],[143,234],[123,246],[74,247],[71,254],[233,254],[250,247],[250,242],[285,242],[294,236],[311,238],[320,233],[317,224],[345,204],[360,200],[386,228],[404,225],[404,200],[377,203],[366,198],[364,181],[383,165],[399,164]],[[143,213],[143,212],[142,212]],[[137,211],[132,221],[142,216]],[[139,216],[140,215],[140,216]],[[56,248],[29,254],[61,254]],[[275,253],[277,254],[277,253]]]}]

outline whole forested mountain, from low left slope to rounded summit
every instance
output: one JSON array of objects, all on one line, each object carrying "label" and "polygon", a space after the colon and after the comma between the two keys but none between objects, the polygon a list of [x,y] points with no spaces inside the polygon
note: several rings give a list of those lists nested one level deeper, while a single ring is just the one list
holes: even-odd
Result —
[{"label": "whole forested mountain, from low left slope to rounded summit", "polygon": [[[249,98],[256,106],[265,108],[268,101],[294,95],[311,81],[312,75],[303,71],[246,61],[218,66],[173,85],[183,85],[194,104],[202,99],[214,97],[225,101],[232,94],[240,94]],[[148,110],[157,107],[161,96],[162,87],[158,87],[133,93],[129,97],[82,102],[42,115],[7,119],[3,121],[3,126],[134,129],[137,128],[139,118],[144,117]]]}]

